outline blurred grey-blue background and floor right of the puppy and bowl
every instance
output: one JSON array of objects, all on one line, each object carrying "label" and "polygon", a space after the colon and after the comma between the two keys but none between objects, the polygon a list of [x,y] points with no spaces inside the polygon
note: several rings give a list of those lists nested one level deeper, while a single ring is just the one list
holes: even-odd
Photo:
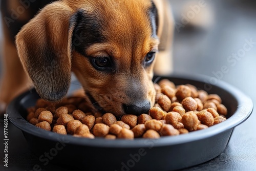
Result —
[{"label": "blurred grey-blue background and floor right of the puppy and bowl", "polygon": [[[255,103],[256,1],[172,0],[170,4],[176,22],[174,74],[203,74],[212,83],[226,81]],[[253,112],[236,128],[219,157],[189,170],[255,170],[255,119]]]}]

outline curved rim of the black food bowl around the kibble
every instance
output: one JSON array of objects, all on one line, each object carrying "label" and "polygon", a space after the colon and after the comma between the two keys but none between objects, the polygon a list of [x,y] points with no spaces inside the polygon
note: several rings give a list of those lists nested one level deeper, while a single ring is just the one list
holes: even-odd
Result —
[{"label": "curved rim of the black food bowl around the kibble", "polygon": [[[205,75],[170,75],[170,76],[162,76],[163,78],[175,78],[175,79],[186,79],[189,81],[198,81],[202,83],[210,83],[209,76]],[[253,110],[253,103],[250,97],[242,93],[239,89],[231,86],[222,80],[218,80],[216,84],[211,84],[215,87],[218,87],[228,93],[230,93],[238,102],[237,110],[234,114],[229,117],[225,122],[213,125],[208,127],[205,130],[199,130],[195,132],[190,132],[188,134],[179,135],[179,136],[167,136],[161,137],[159,139],[145,139],[145,138],[136,138],[133,140],[125,140],[125,139],[116,139],[116,140],[106,140],[104,138],[95,138],[95,139],[87,139],[74,137],[72,135],[61,135],[54,132],[45,131],[39,129],[38,127],[30,124],[26,119],[24,119],[15,108],[19,104],[20,100],[23,100],[31,91],[27,91],[14,100],[12,100],[7,106],[7,114],[10,121],[18,127],[21,131],[32,134],[33,136],[48,139],[51,141],[60,141],[65,142],[67,144],[75,144],[82,146],[94,146],[94,147],[111,147],[111,148],[140,148],[140,147],[156,147],[156,146],[166,146],[166,145],[176,145],[182,143],[188,143],[200,140],[202,138],[208,138],[215,135],[218,135],[222,132],[233,129],[239,124],[243,123],[245,120],[249,118]],[[33,90],[33,93],[36,91]]]}]

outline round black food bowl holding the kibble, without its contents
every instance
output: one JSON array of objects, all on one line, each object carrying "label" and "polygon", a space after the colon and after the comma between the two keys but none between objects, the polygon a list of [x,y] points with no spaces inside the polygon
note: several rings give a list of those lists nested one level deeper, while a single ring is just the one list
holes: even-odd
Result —
[{"label": "round black food bowl holding the kibble, without its contents", "polygon": [[[208,129],[160,139],[106,140],[60,135],[41,130],[26,121],[26,109],[39,98],[36,91],[14,99],[7,108],[10,121],[22,130],[31,151],[42,164],[54,162],[86,170],[176,170],[209,161],[220,155],[228,144],[234,127],[244,122],[253,109],[252,101],[238,89],[208,77],[167,78],[176,85],[193,84],[215,93],[228,110],[228,119]],[[74,84],[71,88],[74,89]],[[47,154],[49,156],[47,156]]]}]

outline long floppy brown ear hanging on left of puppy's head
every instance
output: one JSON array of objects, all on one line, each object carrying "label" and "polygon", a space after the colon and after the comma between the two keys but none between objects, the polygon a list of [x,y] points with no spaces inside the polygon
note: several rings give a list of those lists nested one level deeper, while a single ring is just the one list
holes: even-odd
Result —
[{"label": "long floppy brown ear hanging on left of puppy's head", "polygon": [[43,99],[57,101],[68,92],[75,17],[65,3],[55,2],[42,9],[16,36],[20,61]]}]

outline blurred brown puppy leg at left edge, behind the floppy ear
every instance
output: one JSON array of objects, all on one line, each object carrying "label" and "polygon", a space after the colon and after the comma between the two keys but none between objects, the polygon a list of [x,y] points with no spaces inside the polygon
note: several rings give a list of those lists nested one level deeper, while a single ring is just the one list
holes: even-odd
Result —
[{"label": "blurred brown puppy leg at left edge, behind the floppy ear", "polygon": [[0,115],[5,112],[6,105],[18,94],[28,90],[32,85],[29,83],[28,77],[18,58],[14,41],[9,36],[9,29],[2,20],[3,35],[2,40],[3,53],[0,84]]}]

